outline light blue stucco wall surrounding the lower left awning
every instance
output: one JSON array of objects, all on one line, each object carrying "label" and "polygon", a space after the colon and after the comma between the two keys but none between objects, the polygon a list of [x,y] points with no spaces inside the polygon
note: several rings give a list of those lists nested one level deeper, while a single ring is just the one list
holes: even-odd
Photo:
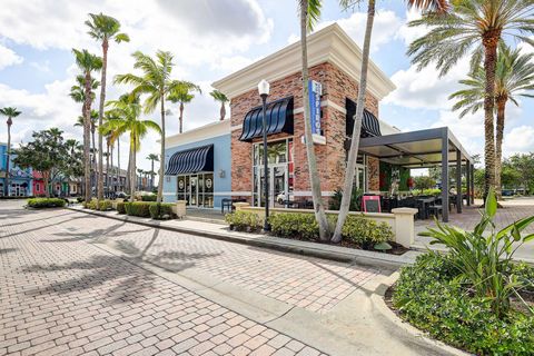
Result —
[{"label": "light blue stucco wall surrounding the lower left awning", "polygon": [[[206,145],[214,145],[214,208],[221,206],[224,198],[230,198],[230,195],[225,195],[231,191],[231,135],[221,135],[209,139],[190,142],[186,145],[170,147],[165,150],[165,167],[169,162],[170,157],[177,152],[186,149],[201,147]],[[219,177],[219,171],[225,171],[225,177]],[[174,202],[177,197],[177,180],[176,176],[165,176],[164,178],[164,201]]]}]

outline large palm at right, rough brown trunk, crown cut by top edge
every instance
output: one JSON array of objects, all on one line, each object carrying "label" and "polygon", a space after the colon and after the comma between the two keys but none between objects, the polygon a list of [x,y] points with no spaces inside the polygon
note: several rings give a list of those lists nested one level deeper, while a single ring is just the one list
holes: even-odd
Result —
[{"label": "large palm at right, rough brown trunk, crown cut by top edge", "polygon": [[435,62],[443,76],[471,55],[472,70],[484,60],[484,197],[495,187],[495,68],[497,46],[503,34],[508,38],[534,42],[528,38],[534,33],[532,21],[534,2],[525,0],[456,0],[451,1],[447,12],[439,16],[424,13],[411,27],[424,26],[429,31],[416,39],[408,48],[413,62],[418,68]]}]

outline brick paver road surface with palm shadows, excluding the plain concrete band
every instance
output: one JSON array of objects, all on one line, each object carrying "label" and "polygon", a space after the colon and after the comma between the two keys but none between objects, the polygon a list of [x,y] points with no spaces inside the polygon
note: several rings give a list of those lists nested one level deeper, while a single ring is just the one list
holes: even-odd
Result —
[{"label": "brick paver road surface with palm shadows, excluding the plain concrete band", "polygon": [[[316,313],[377,271],[117,221],[0,202],[0,355],[319,355],[102,249],[196,268]],[[303,326],[306,327],[306,326]]]}]

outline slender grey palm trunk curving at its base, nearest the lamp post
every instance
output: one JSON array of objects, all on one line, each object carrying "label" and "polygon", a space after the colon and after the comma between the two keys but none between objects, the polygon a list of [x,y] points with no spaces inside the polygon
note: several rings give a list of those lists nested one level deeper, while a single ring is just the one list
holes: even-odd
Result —
[{"label": "slender grey palm trunk curving at its base, nearest the lamp post", "polygon": [[[315,157],[314,140],[309,122],[309,96],[308,96],[308,48],[307,48],[307,19],[308,1],[300,2],[300,48],[303,59],[303,100],[304,100],[304,131],[306,137],[306,156],[308,158],[309,182],[312,185],[312,198],[314,200],[314,211],[317,224],[319,225],[319,238],[325,241],[329,238],[328,220],[326,218],[325,205],[320,190],[320,178],[317,171],[317,159]],[[266,204],[268,204],[266,201]]]}]

